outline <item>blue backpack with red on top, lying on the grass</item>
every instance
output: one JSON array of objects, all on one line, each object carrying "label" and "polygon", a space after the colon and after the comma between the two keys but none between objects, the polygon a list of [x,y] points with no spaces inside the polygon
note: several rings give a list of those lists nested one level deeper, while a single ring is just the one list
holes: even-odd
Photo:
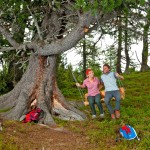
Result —
[{"label": "blue backpack with red on top, lying on the grass", "polygon": [[[140,140],[137,136],[137,133],[135,131],[135,129],[133,127],[131,127],[130,125],[124,125],[119,129],[120,134],[122,135],[123,138],[127,139],[127,140],[132,140],[132,139],[137,139]],[[118,139],[121,138],[116,138],[116,142],[118,141]]]}]

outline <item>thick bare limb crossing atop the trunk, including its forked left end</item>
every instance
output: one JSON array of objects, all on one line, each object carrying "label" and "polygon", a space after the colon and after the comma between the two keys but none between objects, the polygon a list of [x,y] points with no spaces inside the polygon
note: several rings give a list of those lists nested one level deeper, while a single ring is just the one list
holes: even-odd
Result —
[{"label": "thick bare limb crossing atop the trunk, including its forked left end", "polygon": [[[100,13],[99,13],[100,14]],[[111,14],[105,14],[99,16],[99,22],[102,24],[102,22],[116,17],[117,13],[112,12]],[[40,43],[30,42],[30,43],[24,43],[22,45],[19,45],[16,43],[13,39],[11,34],[6,32],[1,26],[0,32],[7,37],[7,40],[10,42],[10,44],[14,47],[13,48],[2,48],[0,51],[9,51],[9,50],[23,50],[26,49],[32,49],[36,51],[36,54],[43,55],[43,56],[49,56],[54,54],[60,54],[62,52],[65,52],[72,47],[74,47],[78,41],[80,41],[85,34],[91,32],[92,30],[97,29],[98,23],[97,18],[95,15],[92,15],[91,12],[85,12],[82,15],[78,16],[78,24],[76,27],[68,34],[66,37],[62,39],[57,39],[53,41],[51,44],[44,44],[44,46],[40,47]],[[92,27],[90,26],[92,25]],[[89,31],[84,32],[84,27],[88,27]]]}]

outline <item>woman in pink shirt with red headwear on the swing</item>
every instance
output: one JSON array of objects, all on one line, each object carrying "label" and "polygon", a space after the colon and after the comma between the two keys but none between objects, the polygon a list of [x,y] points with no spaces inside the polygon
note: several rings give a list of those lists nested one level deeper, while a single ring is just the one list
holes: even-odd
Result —
[{"label": "woman in pink shirt with red headwear on the swing", "polygon": [[100,81],[94,76],[94,72],[90,68],[86,70],[86,76],[87,78],[83,81],[83,84],[80,85],[79,83],[76,83],[76,86],[88,89],[88,101],[92,111],[92,118],[96,117],[95,104],[97,104],[100,111],[100,118],[104,118],[103,106],[100,102]]}]

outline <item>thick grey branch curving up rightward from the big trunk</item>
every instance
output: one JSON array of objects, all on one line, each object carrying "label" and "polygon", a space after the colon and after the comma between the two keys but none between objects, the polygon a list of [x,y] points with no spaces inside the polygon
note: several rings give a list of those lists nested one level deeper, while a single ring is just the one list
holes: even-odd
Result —
[{"label": "thick grey branch curving up rightward from the big trunk", "polygon": [[[117,13],[115,12],[106,14],[101,17],[100,21],[104,22],[105,20],[111,19],[116,15]],[[51,44],[46,44],[44,47],[38,49],[37,54],[48,56],[60,54],[71,49],[84,37],[85,34],[98,27],[98,24],[94,24],[91,28],[89,28],[89,32],[85,33],[84,27],[89,27],[91,24],[93,24],[93,22],[96,22],[95,16],[91,15],[90,12],[84,13],[80,16],[77,26],[65,38],[52,42]]]}]

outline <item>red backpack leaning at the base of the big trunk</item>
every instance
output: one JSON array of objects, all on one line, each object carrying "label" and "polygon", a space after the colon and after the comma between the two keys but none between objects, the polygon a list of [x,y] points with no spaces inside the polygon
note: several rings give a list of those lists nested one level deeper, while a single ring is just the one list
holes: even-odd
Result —
[{"label": "red backpack leaning at the base of the big trunk", "polygon": [[40,108],[36,108],[36,109],[31,110],[30,112],[28,112],[26,114],[26,117],[23,120],[23,123],[27,123],[27,122],[37,123],[41,119],[40,115],[42,112],[43,112],[43,110]]}]

